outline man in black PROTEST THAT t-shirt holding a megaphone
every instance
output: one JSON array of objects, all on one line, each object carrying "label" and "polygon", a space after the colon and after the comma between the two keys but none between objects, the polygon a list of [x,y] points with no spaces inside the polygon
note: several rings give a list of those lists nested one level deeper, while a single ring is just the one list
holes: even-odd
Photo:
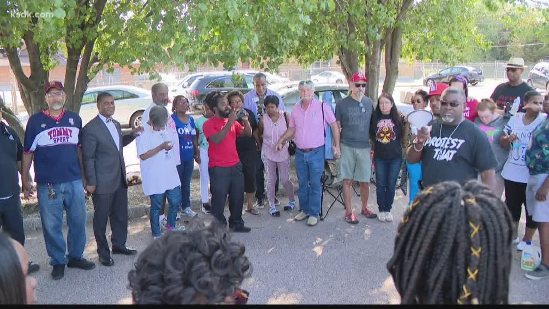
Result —
[{"label": "man in black PROTEST THAT t-shirt holding a megaphone", "polygon": [[494,152],[488,136],[463,119],[465,101],[462,89],[450,87],[442,92],[440,119],[419,130],[408,148],[408,162],[422,162],[424,187],[446,180],[464,183],[480,173],[482,182],[496,192]]}]

